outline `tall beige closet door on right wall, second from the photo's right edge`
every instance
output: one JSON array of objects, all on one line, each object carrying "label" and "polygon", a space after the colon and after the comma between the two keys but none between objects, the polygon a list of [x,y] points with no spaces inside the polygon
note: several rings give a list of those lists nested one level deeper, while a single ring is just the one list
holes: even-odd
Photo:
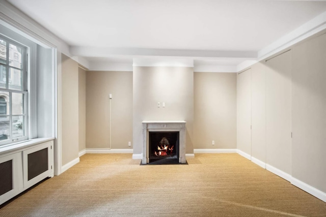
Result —
[{"label": "tall beige closet door on right wall, second from the photo's right edge", "polygon": [[289,180],[291,175],[290,50],[266,60],[266,163],[266,169],[274,170],[273,172]]}]

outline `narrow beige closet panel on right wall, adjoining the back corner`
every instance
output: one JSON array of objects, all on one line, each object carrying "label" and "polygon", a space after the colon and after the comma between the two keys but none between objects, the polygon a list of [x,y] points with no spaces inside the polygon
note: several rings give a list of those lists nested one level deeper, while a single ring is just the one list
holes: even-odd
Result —
[{"label": "narrow beige closet panel on right wall, adjoining the back corner", "polygon": [[237,148],[251,159],[251,69],[237,76]]}]

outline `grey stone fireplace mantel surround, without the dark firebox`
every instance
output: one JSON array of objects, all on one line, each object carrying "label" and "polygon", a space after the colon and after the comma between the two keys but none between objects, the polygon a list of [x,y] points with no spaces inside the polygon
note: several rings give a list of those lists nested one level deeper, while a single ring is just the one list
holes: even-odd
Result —
[{"label": "grey stone fireplace mantel surround, without the dark firebox", "polygon": [[148,133],[149,132],[179,132],[179,163],[185,161],[185,124],[183,120],[144,120],[143,122],[143,158],[142,164],[149,163]]}]

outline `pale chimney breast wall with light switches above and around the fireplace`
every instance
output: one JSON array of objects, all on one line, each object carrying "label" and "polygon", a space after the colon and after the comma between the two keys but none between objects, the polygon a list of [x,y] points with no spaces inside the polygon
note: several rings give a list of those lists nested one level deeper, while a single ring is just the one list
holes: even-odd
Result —
[{"label": "pale chimney breast wall with light switches above and around the fireplace", "polygon": [[[166,107],[157,107],[165,102]],[[133,67],[133,153],[142,153],[143,120],[185,120],[186,153],[194,152],[194,71],[190,67]]]}]

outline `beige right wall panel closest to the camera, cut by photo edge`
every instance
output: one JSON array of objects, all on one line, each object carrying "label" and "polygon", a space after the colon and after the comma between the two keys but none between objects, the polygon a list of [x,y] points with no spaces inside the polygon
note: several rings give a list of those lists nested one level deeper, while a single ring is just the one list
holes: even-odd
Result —
[{"label": "beige right wall panel closest to the camera, cut by photo edge", "polygon": [[292,49],[292,176],[326,193],[326,35]]}]

